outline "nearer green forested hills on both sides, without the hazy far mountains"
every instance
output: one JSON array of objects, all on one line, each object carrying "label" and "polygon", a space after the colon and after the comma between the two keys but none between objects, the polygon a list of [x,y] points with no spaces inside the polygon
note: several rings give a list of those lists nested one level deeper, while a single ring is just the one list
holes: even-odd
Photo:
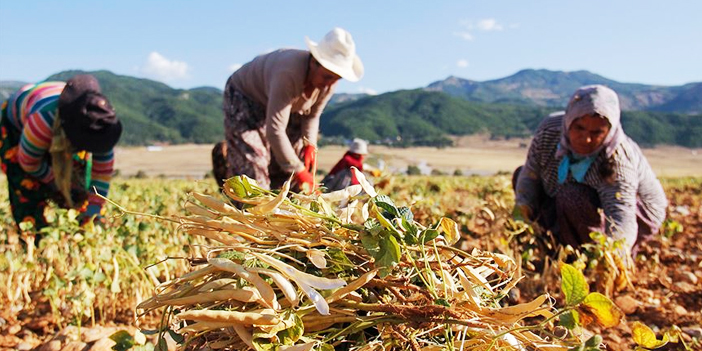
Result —
[{"label": "nearer green forested hills on both sides, without the hazy far mountains", "polygon": [[[77,73],[61,72],[48,79],[66,80]],[[224,138],[219,89],[173,89],[108,71],[90,73],[100,80],[123,120],[122,145],[213,143]],[[449,136],[529,137],[545,116],[559,109],[474,102],[423,89],[344,100],[325,110],[321,144],[345,144],[358,137],[398,147],[448,147],[452,145]],[[626,133],[642,146],[702,147],[701,115],[626,111],[622,123]]]}]

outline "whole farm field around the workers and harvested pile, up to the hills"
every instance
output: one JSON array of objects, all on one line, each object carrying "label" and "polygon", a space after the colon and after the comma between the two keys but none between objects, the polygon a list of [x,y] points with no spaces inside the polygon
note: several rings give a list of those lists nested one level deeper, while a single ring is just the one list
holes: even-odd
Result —
[{"label": "whole farm field around the workers and harvested pile, up to the hills", "polygon": [[[591,333],[595,333],[604,337],[604,344],[610,350],[630,350],[637,344],[655,345],[657,342],[650,337],[657,338],[658,343],[662,338],[668,338],[669,350],[702,348],[700,150],[645,150],[658,174],[666,176],[663,185],[670,201],[668,220],[660,235],[643,245],[635,261],[636,269],[629,273],[627,283],[621,280],[623,275],[617,273],[616,266],[611,264],[611,243],[593,244],[580,252],[566,255],[569,251],[552,246],[547,235],[532,232],[523,223],[515,223],[510,215],[514,195],[509,174],[404,176],[389,171],[424,161],[449,174],[456,169],[461,169],[466,175],[509,172],[522,162],[526,152],[519,144],[486,143],[489,149],[466,146],[440,150],[372,147],[369,162],[382,159],[386,165],[385,171],[372,181],[378,192],[388,195],[398,208],[409,206],[416,223],[438,226],[442,217],[454,221],[460,233],[455,247],[464,252],[475,255],[480,255],[480,252],[501,253],[514,258],[518,264],[514,274],[521,275],[521,280],[513,289],[495,295],[486,295],[482,288],[476,287],[475,291],[483,291],[479,296],[483,301],[482,308],[530,303],[538,301],[536,299],[543,294],[549,294],[553,299],[545,303],[552,304],[547,307],[551,311],[563,313],[566,309],[573,309],[574,306],[568,305],[567,301],[573,299],[575,290],[572,285],[562,285],[560,277],[560,265],[570,262],[583,269],[587,279],[587,284],[583,283],[580,288],[609,296],[616,304],[621,320],[617,321],[616,326],[606,328],[594,323],[587,309],[577,309],[582,314],[575,322],[568,322],[570,317],[566,318],[564,314],[555,324],[534,316],[514,324],[491,325],[496,323],[490,319],[494,316],[490,317],[490,313],[484,314],[486,311],[482,310],[482,315],[487,319],[470,320],[470,323],[476,322],[475,326],[480,326],[480,329],[475,329],[471,335],[459,333],[451,338],[468,340],[475,347],[472,349],[486,350],[487,344],[477,341],[492,340],[492,344],[503,342],[495,336],[502,335],[499,330],[510,333],[528,330],[539,338],[553,341],[552,338],[563,335],[564,329],[558,326],[562,324],[568,329],[574,325],[585,326],[584,329],[572,329],[568,337],[562,340],[573,347],[577,346],[578,339],[587,340]],[[101,345],[114,345],[114,341],[108,337],[119,330],[125,332],[118,334],[121,335],[121,339],[118,339],[127,342],[121,344],[120,349],[126,349],[125,345],[130,345],[128,342],[142,344],[139,350],[172,349],[176,347],[176,341],[183,342],[173,331],[177,329],[175,325],[171,325],[171,329],[164,325],[165,329],[158,332],[161,321],[158,312],[136,319],[136,314],[143,312],[137,311],[136,306],[154,296],[155,291],[163,293],[163,288],[156,290],[160,284],[200,267],[202,258],[209,250],[221,250],[212,240],[187,235],[182,220],[172,220],[174,216],[189,214],[184,209],[188,201],[197,203],[193,201],[192,192],[219,196],[214,181],[157,177],[202,178],[209,171],[209,151],[208,145],[173,146],[160,151],[120,149],[117,168],[121,176],[111,185],[110,199],[115,204],[106,206],[106,225],[80,227],[75,221],[75,212],[50,208],[47,214],[52,226],[44,231],[44,239],[38,247],[23,244],[22,239],[31,238],[20,234],[12,223],[7,193],[2,190],[6,189],[5,178],[0,175],[0,349],[40,346],[47,350],[101,350],[98,348]],[[329,169],[344,151],[340,147],[323,148],[320,151],[321,168]],[[126,177],[138,171],[143,176],[152,177]],[[389,205],[385,202],[383,206],[388,208]],[[323,211],[321,206],[314,208]],[[260,220],[265,221],[265,218]],[[354,228],[358,230],[358,227]],[[368,243],[361,241],[354,245],[363,249]],[[407,257],[408,251],[404,251],[404,245],[401,258]],[[367,264],[367,260],[364,262]],[[401,267],[407,268],[406,265]],[[410,277],[403,278],[403,286],[410,290],[417,289],[419,283]],[[490,282],[497,283],[502,278],[490,278]],[[396,283],[400,282],[392,284]],[[384,283],[376,280],[374,284],[377,288],[377,284]],[[569,292],[562,290],[564,286]],[[181,290],[182,293],[192,294],[187,284],[181,289],[185,289]],[[403,298],[402,291],[404,289],[395,291],[395,296]],[[571,298],[567,294],[571,294]],[[282,295],[279,298],[282,300]],[[307,300],[303,301],[309,305]],[[431,306],[436,310],[436,305],[450,305],[456,301],[440,299]],[[218,304],[211,306],[218,308]],[[369,305],[363,306],[369,308]],[[409,313],[410,310],[404,311]],[[419,313],[421,309],[412,311]],[[388,313],[387,318],[395,318],[396,321],[400,320],[397,318],[404,318],[399,310],[390,309],[385,313]],[[642,329],[642,325],[647,329]],[[334,329],[339,326],[344,328]],[[330,335],[344,332],[353,337],[361,335],[367,340],[376,341],[385,335],[385,332],[378,334],[377,330],[354,331],[359,325],[353,326],[336,324],[326,332],[332,333]],[[136,331],[137,327],[146,337]],[[401,338],[402,330],[412,328],[421,328],[421,325],[413,325],[409,329],[392,327],[386,332],[397,333],[396,338]],[[495,334],[486,332],[493,329]],[[420,329],[412,330],[417,332]],[[649,333],[644,333],[648,343],[642,344],[642,330]],[[314,337],[313,334],[305,335]],[[237,337],[226,331],[192,340],[197,345],[209,337],[216,338],[223,345],[239,342]],[[447,337],[439,335],[433,341],[425,341],[446,341]],[[471,338],[475,339],[471,341]],[[317,340],[322,339],[317,337]],[[342,339],[324,340],[327,340],[325,345],[343,346]],[[386,347],[412,349],[408,344],[398,346],[402,344],[390,342]],[[319,349],[328,348],[320,346]]]}]

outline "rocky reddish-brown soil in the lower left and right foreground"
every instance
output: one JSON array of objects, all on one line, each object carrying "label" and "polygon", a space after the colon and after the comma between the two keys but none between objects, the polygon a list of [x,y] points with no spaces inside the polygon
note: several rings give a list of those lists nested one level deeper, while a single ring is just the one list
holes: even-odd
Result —
[{"label": "rocky reddish-brown soil in the lower left and right foreground", "polygon": [[[664,235],[655,236],[643,244],[641,255],[636,261],[632,285],[613,296],[625,315],[624,322],[607,330],[591,328],[604,337],[607,350],[635,348],[631,334],[634,321],[651,327],[659,339],[664,332],[678,328],[689,349],[702,350],[702,241],[699,238],[702,233],[702,189],[691,185],[668,188],[667,191],[670,200],[669,219],[681,224],[683,229],[676,231],[664,228]],[[485,236],[478,240],[491,239]],[[544,289],[553,293],[554,285],[539,278],[538,272],[526,269],[524,273],[524,280],[518,286],[521,293],[517,296],[520,297],[515,302],[530,301],[533,298],[531,295],[540,295]],[[530,291],[531,289],[524,289],[524,286],[535,289]],[[0,325],[0,349],[29,350],[41,346],[41,349],[49,350],[52,342],[50,339],[53,338],[56,343],[56,338],[68,333],[57,329],[51,320],[48,303],[42,301],[39,295],[37,297],[38,303],[31,315],[20,315],[15,319],[8,315],[12,311],[0,311],[0,322],[16,321]],[[117,329],[133,329],[128,327],[131,324],[129,318],[114,322]],[[107,326],[85,326],[83,333],[99,334],[102,338],[100,340],[103,340],[100,343],[109,345],[105,349],[108,350],[113,343],[104,340],[108,335],[105,327],[115,330],[115,324],[109,323]],[[83,340],[83,350],[93,350],[92,347],[98,344],[97,339],[90,340],[93,341]],[[683,349],[681,343],[671,343],[661,350]]]}]

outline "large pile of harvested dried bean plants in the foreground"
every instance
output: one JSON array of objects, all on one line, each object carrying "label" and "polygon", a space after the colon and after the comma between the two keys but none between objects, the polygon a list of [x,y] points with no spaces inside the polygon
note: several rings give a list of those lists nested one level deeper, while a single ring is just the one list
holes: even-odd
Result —
[{"label": "large pile of harvested dried bean plants in the foreground", "polygon": [[193,194],[181,228],[213,244],[138,308],[163,308],[161,333],[184,349],[565,349],[547,295],[501,306],[520,278],[513,259],[452,247],[453,221],[416,223],[354,171],[361,185],[322,195],[229,179],[243,210]]}]

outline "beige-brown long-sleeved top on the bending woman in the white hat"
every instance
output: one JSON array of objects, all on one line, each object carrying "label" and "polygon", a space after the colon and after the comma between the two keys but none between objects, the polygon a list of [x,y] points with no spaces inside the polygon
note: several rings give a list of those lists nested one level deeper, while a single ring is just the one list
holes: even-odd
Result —
[{"label": "beige-brown long-sleeved top on the bending woman in the white hat", "polygon": [[265,107],[266,138],[281,168],[288,172],[304,169],[286,128],[290,114],[302,117],[302,136],[317,143],[319,118],[334,92],[335,85],[316,89],[305,96],[305,78],[310,53],[305,50],[280,49],[260,55],[234,72],[227,85]]}]

